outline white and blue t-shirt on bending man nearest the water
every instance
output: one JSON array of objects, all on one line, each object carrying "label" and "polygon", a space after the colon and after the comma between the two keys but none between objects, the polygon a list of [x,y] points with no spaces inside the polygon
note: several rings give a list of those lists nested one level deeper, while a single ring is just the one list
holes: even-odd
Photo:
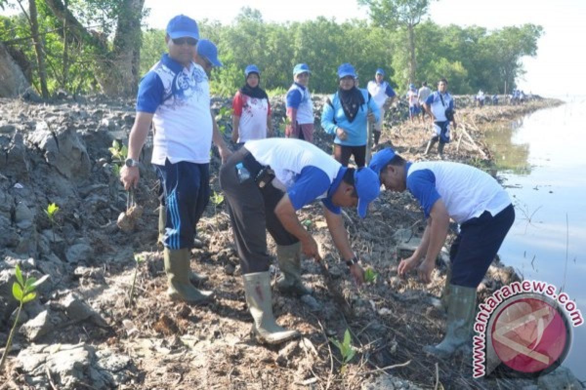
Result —
[{"label": "white and blue t-shirt on bending man nearest the water", "polygon": [[442,199],[450,218],[464,223],[488,211],[495,216],[511,201],[500,184],[471,165],[448,161],[407,163],[407,189],[420,203],[425,218]]}]

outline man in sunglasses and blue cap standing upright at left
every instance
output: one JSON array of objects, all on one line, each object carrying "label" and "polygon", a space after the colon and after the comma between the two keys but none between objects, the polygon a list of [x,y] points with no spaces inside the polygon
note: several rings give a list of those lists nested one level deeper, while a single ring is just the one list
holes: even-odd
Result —
[{"label": "man in sunglasses and blue cap standing upright at left", "polygon": [[[138,158],[151,123],[154,149],[151,163],[161,183],[159,233],[171,299],[208,301],[189,281],[190,254],[197,221],[209,201],[209,161],[212,139],[225,160],[230,151],[210,111],[206,71],[222,65],[213,43],[199,39],[195,20],[178,15],[167,25],[169,53],[142,78],[137,116],[128,140],[128,159],[120,172],[124,188],[138,184]],[[197,46],[197,48],[196,48]],[[196,60],[194,63],[193,60]]]}]

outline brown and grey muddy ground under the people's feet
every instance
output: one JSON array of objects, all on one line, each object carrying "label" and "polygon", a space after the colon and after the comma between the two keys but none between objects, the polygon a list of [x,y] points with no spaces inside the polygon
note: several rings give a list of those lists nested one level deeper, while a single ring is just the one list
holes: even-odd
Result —
[{"label": "brown and grey muddy ground under the people's feet", "polygon": [[[316,105],[319,105],[319,98]],[[460,101],[459,101],[460,102]],[[459,122],[472,138],[445,149],[445,159],[492,171],[483,124],[503,126],[524,113],[560,102],[540,99],[520,106],[473,108],[462,97]],[[221,105],[222,102],[216,102]],[[275,123],[284,113],[274,104]],[[403,105],[389,111],[381,144],[392,144],[411,160],[424,159],[429,124],[404,122]],[[17,262],[40,277],[39,298],[25,305],[2,388],[15,389],[538,389],[541,379],[473,380],[468,360],[436,361],[421,348],[443,335],[445,315],[437,309],[445,282],[438,259],[430,285],[397,277],[397,244],[417,244],[423,213],[408,194],[383,192],[360,220],[345,211],[352,246],[363,263],[378,272],[360,290],[350,282],[325,227],[318,205],[299,218],[323,243],[329,269],[353,309],[344,316],[328,293],[313,260],[302,263],[304,281],[315,301],[274,293],[278,322],[298,329],[300,340],[275,347],[250,337],[251,317],[244,300],[238,259],[222,199],[210,201],[198,227],[201,246],[192,267],[209,275],[202,286],[216,292],[207,306],[172,303],[165,297],[162,251],[156,244],[157,184],[147,165],[137,191],[144,214],[132,233],[115,222],[125,209],[125,192],[115,175],[108,147],[126,141],[134,121],[131,102],[64,101],[0,105],[0,344],[13,324],[16,302],[10,294]],[[316,144],[331,151],[331,139],[316,130]],[[144,160],[148,161],[149,147]],[[430,156],[428,158],[438,158]],[[217,183],[217,154],[212,188]],[[51,223],[44,209],[60,206]],[[449,241],[453,239],[453,231]],[[272,253],[274,244],[269,238]],[[400,253],[401,254],[401,253]],[[135,258],[142,261],[138,263]],[[445,255],[442,258],[445,259]],[[505,259],[506,261],[506,259]],[[137,279],[129,299],[135,270]],[[275,263],[271,268],[278,275]],[[479,299],[516,278],[495,260],[479,287]],[[356,355],[340,363],[329,339],[352,334]],[[385,367],[396,366],[384,370]],[[557,386],[557,385],[556,385]],[[555,388],[555,387],[554,387]]]}]

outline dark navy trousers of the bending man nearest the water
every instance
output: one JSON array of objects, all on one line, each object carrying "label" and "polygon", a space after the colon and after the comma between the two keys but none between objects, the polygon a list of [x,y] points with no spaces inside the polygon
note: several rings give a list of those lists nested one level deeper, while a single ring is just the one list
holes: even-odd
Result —
[{"label": "dark navy trousers of the bending man nearest the water", "polygon": [[462,223],[449,250],[450,284],[478,287],[514,221],[515,208],[509,205],[495,216],[485,211]]}]

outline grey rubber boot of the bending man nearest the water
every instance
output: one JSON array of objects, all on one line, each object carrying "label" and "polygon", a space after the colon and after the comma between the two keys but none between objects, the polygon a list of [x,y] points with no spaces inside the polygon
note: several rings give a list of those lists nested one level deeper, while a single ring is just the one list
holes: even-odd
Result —
[{"label": "grey rubber boot of the bending man nearest the water", "polygon": [[437,346],[425,346],[425,353],[449,358],[462,349],[468,350],[472,341],[472,325],[476,313],[476,288],[450,286],[448,319],[444,340]]}]

